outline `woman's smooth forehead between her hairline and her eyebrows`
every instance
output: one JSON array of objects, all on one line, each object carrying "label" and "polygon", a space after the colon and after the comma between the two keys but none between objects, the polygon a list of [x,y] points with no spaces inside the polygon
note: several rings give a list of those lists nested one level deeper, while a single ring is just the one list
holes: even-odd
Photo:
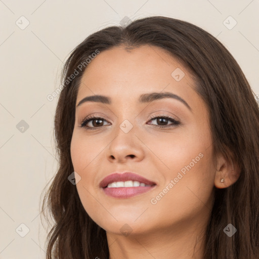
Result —
[{"label": "woman's smooth forehead between her hairline and her eyebrows", "polygon": [[77,98],[105,94],[129,99],[162,91],[191,98],[191,85],[188,70],[165,50],[148,45],[130,50],[120,46],[101,52],[88,64]]}]

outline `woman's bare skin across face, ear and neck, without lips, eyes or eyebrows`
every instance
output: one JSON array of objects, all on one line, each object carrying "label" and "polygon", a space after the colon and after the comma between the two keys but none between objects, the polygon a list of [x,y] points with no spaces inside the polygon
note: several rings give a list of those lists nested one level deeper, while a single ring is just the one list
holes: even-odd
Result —
[{"label": "woman's bare skin across face, ear and neck, without lips, eyes or eyebrows", "polygon": [[[176,68],[185,73],[180,81],[171,76]],[[214,186],[230,186],[238,170],[223,156],[213,165],[208,110],[193,87],[191,74],[181,63],[163,49],[150,46],[130,51],[120,46],[101,52],[83,74],[76,105],[97,94],[112,99],[111,105],[89,102],[76,108],[71,141],[74,171],[81,177],[77,191],[84,209],[106,230],[110,259],[202,258]],[[192,110],[171,98],[137,103],[141,94],[152,92],[174,93]],[[172,123],[150,118],[161,114],[180,124],[156,128]],[[88,122],[93,131],[80,127],[89,115],[104,118],[101,126]],[[125,119],[133,125],[128,133],[119,127]],[[168,188],[200,153],[203,157]],[[131,198],[107,196],[99,183],[112,172],[124,170],[137,172],[157,186]],[[151,199],[166,186],[169,191],[152,204]],[[130,235],[121,233],[121,228],[130,229]]]}]

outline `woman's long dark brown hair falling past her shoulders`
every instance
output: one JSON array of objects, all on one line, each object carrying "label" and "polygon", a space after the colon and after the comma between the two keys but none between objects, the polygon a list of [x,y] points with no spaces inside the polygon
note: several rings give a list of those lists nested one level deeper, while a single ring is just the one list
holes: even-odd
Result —
[{"label": "woman's long dark brown hair falling past her shoulders", "polygon": [[[80,69],[78,66],[97,51],[142,45],[168,51],[191,71],[195,91],[209,111],[214,157],[224,154],[241,169],[233,185],[214,188],[204,258],[258,258],[259,109],[255,94],[236,60],[218,39],[191,23],[161,16],[97,31],[85,38],[65,63],[54,131],[59,168],[41,211],[45,218],[48,211],[55,223],[47,238],[47,258],[109,258],[105,230],[89,217],[76,186],[68,181],[73,172],[70,143],[77,90],[87,69],[85,63]],[[75,70],[78,74],[71,80]],[[223,231],[230,223],[237,229],[232,237]]]}]

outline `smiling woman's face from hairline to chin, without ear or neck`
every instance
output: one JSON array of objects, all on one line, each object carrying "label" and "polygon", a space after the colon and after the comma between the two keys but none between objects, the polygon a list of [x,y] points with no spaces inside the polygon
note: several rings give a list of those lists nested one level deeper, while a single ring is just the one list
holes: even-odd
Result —
[{"label": "smiling woman's face from hairline to chin, without ear or neck", "polygon": [[[76,105],[94,95],[110,103],[96,99],[76,107],[71,158],[82,205],[107,233],[182,231],[205,224],[216,169],[208,112],[193,87],[188,70],[157,47],[116,47],[88,64]],[[99,119],[81,127],[90,115]],[[107,176],[125,171],[155,185],[100,187]],[[137,178],[121,180],[109,182],[131,186]]]}]

